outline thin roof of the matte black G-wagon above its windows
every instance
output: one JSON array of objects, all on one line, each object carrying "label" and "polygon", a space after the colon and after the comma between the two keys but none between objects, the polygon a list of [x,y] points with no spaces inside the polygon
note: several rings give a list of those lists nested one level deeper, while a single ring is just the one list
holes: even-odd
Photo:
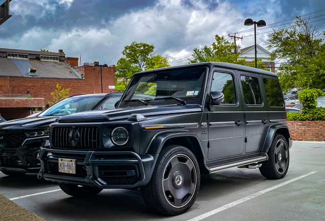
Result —
[{"label": "thin roof of the matte black G-wagon above its windows", "polygon": [[226,68],[226,69],[236,69],[240,71],[248,71],[248,72],[254,72],[257,74],[264,74],[264,75],[269,75],[272,77],[277,77],[277,74],[274,74],[273,72],[265,71],[262,69],[257,69],[257,68],[252,68],[252,67],[247,67],[244,65],[240,64],[233,64],[233,63],[225,63],[225,62],[202,62],[202,63],[193,63],[193,64],[184,64],[184,65],[175,65],[173,67],[167,67],[167,68],[159,68],[159,69],[154,69],[154,70],[149,70],[149,71],[144,71],[144,72],[138,72],[135,75],[141,75],[147,72],[152,72],[152,71],[162,71],[162,70],[170,70],[170,69],[175,69],[175,68],[186,68],[186,67],[195,67],[195,66],[201,66],[201,65],[214,65],[217,67],[221,68]]}]

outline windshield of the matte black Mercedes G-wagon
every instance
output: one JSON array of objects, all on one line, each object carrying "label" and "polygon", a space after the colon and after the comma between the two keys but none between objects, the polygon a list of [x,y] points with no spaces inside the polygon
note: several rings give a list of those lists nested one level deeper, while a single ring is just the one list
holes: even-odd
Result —
[{"label": "windshield of the matte black Mercedes G-wagon", "polygon": [[207,67],[196,67],[135,76],[119,107],[197,101],[206,73]]}]

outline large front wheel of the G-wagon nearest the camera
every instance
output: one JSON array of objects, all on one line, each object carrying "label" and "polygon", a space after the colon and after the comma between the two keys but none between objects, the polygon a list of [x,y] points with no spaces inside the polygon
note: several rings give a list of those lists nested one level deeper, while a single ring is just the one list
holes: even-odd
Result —
[{"label": "large front wheel of the G-wagon nearest the camera", "polygon": [[159,213],[179,215],[191,208],[200,188],[200,170],[194,154],[183,146],[162,150],[150,182],[141,188],[145,203]]}]

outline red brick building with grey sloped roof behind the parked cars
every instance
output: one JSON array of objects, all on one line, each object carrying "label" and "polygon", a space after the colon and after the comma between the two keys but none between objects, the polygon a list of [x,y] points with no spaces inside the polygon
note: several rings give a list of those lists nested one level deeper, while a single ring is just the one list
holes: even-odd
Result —
[{"label": "red brick building with grey sloped roof behind the parked cars", "polygon": [[[96,63],[98,61],[95,61]],[[31,108],[52,101],[59,83],[68,95],[115,91],[115,66],[78,67],[78,58],[59,53],[0,48],[0,115],[5,119],[30,115]],[[101,75],[102,70],[102,75]],[[101,85],[101,78],[103,85]]]}]

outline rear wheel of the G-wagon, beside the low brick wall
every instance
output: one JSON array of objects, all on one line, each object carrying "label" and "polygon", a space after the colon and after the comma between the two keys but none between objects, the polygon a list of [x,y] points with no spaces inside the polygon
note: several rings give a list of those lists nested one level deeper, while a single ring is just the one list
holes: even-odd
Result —
[{"label": "rear wheel of the G-wagon, beside the low brick wall", "polygon": [[283,135],[276,134],[268,150],[269,159],[262,163],[260,172],[265,178],[282,179],[289,168],[289,145]]}]

